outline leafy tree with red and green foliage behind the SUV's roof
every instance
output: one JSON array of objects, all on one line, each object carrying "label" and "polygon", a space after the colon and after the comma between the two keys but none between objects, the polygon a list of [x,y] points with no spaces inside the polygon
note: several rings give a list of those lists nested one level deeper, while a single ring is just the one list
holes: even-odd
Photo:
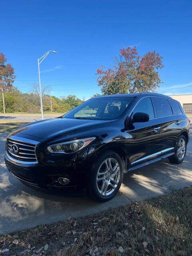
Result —
[{"label": "leafy tree with red and green foliage behind the SUV's roof", "polygon": [[162,83],[157,71],[164,67],[162,58],[155,50],[139,56],[136,46],[122,46],[114,68],[100,66],[97,70],[102,94],[156,92]]}]

